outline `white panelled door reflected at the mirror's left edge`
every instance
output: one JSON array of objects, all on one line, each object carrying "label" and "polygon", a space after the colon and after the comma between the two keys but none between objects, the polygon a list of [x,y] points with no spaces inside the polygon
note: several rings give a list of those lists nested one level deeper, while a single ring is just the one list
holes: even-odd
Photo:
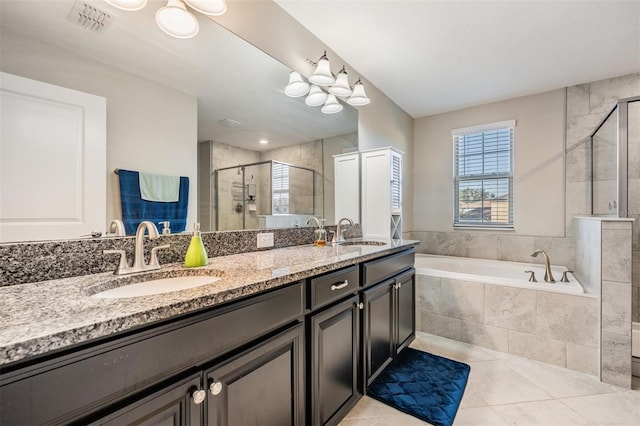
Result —
[{"label": "white panelled door reflected at the mirror's left edge", "polygon": [[0,73],[0,242],[106,225],[106,99]]}]

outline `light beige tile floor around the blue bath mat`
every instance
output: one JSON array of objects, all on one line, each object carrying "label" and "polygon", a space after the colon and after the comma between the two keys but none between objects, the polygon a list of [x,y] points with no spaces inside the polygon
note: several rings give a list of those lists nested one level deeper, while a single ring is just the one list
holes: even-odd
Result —
[{"label": "light beige tile floor around the blue bath mat", "polygon": [[[454,425],[640,426],[640,379],[628,390],[595,377],[426,333],[412,347],[467,363]],[[427,425],[364,397],[341,426]]]}]

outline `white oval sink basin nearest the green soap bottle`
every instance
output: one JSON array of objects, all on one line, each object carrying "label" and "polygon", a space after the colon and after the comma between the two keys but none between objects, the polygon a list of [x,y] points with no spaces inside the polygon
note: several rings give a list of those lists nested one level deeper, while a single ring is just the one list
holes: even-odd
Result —
[{"label": "white oval sink basin nearest the green soap bottle", "polygon": [[92,297],[97,297],[99,299],[121,299],[124,297],[153,296],[156,294],[171,293],[174,291],[200,287],[216,282],[219,279],[220,277],[212,277],[208,275],[159,278],[104,290],[100,293],[94,294]]}]

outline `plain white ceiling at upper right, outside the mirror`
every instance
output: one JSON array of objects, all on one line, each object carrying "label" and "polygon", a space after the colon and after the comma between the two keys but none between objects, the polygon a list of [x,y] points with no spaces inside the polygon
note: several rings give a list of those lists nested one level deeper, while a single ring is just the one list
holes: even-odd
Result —
[{"label": "plain white ceiling at upper right, outside the mirror", "polygon": [[639,0],[275,1],[414,118],[640,71]]}]

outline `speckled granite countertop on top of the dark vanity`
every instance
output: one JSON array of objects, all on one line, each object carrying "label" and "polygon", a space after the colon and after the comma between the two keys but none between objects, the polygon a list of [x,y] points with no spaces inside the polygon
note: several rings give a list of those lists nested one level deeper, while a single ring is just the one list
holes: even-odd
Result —
[{"label": "speckled granite countertop on top of the dark vanity", "polygon": [[[378,246],[294,246],[214,257],[208,266],[188,270],[181,264],[169,264],[160,271],[131,276],[117,277],[109,272],[0,287],[0,366],[277,288],[417,243],[390,240]],[[114,280],[121,285],[147,276],[179,276],[185,271],[211,275],[215,282],[153,296],[92,297],[113,287]]]}]

